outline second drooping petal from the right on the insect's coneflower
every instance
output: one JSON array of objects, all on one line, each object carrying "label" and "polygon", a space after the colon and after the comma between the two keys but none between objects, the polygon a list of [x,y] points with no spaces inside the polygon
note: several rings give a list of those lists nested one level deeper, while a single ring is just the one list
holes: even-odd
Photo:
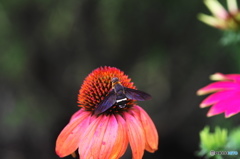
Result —
[{"label": "second drooping petal from the right on the insect's coneflower", "polygon": [[133,159],[141,159],[145,148],[145,135],[142,124],[128,112],[124,112],[127,134],[132,149]]}]

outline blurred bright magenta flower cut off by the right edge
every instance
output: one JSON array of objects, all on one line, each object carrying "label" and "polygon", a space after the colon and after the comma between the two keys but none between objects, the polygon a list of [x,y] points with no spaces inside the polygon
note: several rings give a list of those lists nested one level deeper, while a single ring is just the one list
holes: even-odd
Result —
[{"label": "blurred bright magenta flower cut off by the right edge", "polygon": [[198,95],[213,93],[204,99],[200,107],[211,106],[207,116],[225,113],[231,117],[240,112],[240,74],[215,73],[210,77],[218,82],[211,83],[197,91]]}]

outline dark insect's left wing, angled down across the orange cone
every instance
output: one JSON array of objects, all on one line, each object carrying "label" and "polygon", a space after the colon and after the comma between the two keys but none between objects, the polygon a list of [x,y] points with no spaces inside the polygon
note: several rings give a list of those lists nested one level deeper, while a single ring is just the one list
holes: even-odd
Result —
[{"label": "dark insect's left wing, angled down across the orange cone", "polygon": [[116,102],[117,96],[114,92],[114,90],[112,90],[104,99],[102,102],[100,102],[100,104],[97,106],[96,110],[95,110],[95,114],[98,115],[100,113],[105,112],[107,109],[109,109],[111,106],[113,106],[113,104]]}]

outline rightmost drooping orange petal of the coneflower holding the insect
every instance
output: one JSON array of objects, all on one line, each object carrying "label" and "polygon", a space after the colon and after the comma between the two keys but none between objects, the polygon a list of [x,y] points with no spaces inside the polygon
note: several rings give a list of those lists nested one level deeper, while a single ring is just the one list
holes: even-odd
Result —
[{"label": "rightmost drooping orange petal of the coneflower holding the insect", "polygon": [[146,113],[145,110],[143,110],[141,107],[135,105],[134,109],[138,110],[140,120],[142,122],[142,126],[144,128],[145,137],[146,137],[146,146],[145,149],[151,153],[155,152],[158,149],[158,133],[157,129],[152,121],[152,119],[149,117],[149,115]]}]

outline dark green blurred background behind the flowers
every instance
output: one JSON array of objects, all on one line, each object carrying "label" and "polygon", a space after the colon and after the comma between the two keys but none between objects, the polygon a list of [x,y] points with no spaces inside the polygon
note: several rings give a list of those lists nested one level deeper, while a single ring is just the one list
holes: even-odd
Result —
[{"label": "dark green blurred background behind the flowers", "polygon": [[58,159],[56,138],[99,66],[123,70],[153,96],[139,104],[160,144],[144,159],[198,158],[205,125],[239,122],[199,108],[196,91],[210,74],[239,73],[238,50],[222,46],[221,32],[197,20],[200,12],[209,13],[201,0],[0,1],[0,158]]}]

